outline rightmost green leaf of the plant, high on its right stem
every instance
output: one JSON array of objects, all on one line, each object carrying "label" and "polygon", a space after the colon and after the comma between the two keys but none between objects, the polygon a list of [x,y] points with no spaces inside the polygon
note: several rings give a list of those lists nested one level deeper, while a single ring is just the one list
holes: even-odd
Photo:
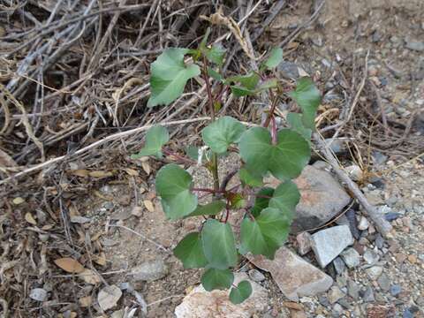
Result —
[{"label": "rightmost green leaf of the plant, high on its right stem", "polygon": [[318,88],[314,86],[312,79],[308,77],[300,78],[297,82],[296,89],[290,93],[290,96],[302,109],[303,125],[305,125],[306,128],[314,130],[314,119],[316,110],[321,103],[321,94]]}]

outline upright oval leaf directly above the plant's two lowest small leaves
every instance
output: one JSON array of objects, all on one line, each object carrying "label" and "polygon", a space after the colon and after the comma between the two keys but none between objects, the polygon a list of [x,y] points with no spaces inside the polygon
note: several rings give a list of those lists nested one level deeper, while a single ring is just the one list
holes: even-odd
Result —
[{"label": "upright oval leaf directly above the plant's two lowest small leaves", "polygon": [[237,264],[237,250],[229,223],[208,219],[201,231],[203,251],[214,269],[228,269]]}]

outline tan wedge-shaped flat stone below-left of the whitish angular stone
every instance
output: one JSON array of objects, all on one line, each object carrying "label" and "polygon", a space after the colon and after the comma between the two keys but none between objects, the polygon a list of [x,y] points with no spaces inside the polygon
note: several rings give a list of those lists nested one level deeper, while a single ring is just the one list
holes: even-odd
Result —
[{"label": "tan wedge-shaped flat stone below-left of the whitish angular stone", "polygon": [[246,256],[259,269],[269,271],[284,296],[293,301],[326,292],[333,284],[330,276],[284,246],[272,261],[262,255]]}]

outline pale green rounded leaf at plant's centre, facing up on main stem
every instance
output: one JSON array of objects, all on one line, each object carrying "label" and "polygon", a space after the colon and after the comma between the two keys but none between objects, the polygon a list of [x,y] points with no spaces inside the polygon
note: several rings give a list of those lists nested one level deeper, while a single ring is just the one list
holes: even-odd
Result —
[{"label": "pale green rounded leaf at plant's centre, facing up on main stem", "polygon": [[246,127],[239,120],[225,116],[217,119],[201,131],[203,141],[217,154],[227,151],[227,148],[238,142]]}]

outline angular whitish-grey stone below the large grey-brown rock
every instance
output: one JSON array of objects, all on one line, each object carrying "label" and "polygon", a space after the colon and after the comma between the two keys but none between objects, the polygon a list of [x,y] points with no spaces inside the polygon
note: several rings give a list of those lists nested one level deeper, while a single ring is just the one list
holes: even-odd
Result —
[{"label": "angular whitish-grey stone below the large grey-brown rock", "polygon": [[345,247],[353,244],[352,234],[347,225],[318,231],[312,235],[311,241],[316,260],[322,268],[342,253]]}]

